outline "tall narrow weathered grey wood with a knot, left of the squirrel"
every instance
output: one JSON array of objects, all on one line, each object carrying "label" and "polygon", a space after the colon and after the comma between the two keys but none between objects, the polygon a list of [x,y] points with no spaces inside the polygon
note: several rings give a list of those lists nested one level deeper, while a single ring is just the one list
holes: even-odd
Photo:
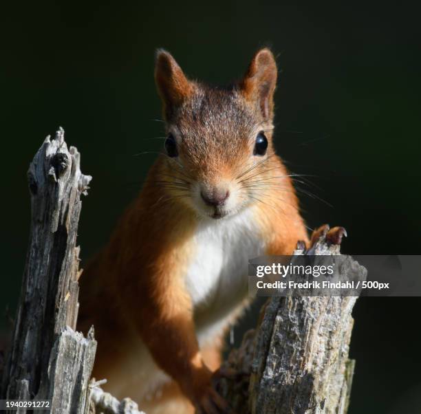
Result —
[{"label": "tall narrow weathered grey wood with a knot, left of the squirrel", "polygon": [[63,129],[45,139],[28,171],[30,240],[1,395],[52,400],[57,414],[85,411],[96,351],[93,331],[87,338],[74,331],[80,195],[90,180],[80,172],[76,148],[67,148]]}]

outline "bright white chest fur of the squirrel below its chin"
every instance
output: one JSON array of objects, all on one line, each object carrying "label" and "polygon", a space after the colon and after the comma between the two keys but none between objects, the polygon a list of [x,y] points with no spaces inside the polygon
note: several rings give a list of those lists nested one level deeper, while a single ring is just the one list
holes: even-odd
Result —
[{"label": "bright white chest fur of the squirrel below its chin", "polygon": [[199,342],[224,327],[248,296],[248,260],[264,242],[251,210],[220,221],[204,221],[194,235],[195,254],[185,283],[195,307]]}]

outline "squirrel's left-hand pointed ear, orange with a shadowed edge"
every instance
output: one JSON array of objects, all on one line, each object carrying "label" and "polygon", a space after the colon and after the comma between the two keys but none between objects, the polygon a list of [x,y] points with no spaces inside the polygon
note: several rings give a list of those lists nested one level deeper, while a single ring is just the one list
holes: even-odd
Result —
[{"label": "squirrel's left-hand pointed ear, orange with a shadowed edge", "polygon": [[155,61],[155,83],[164,103],[164,112],[180,103],[193,93],[193,85],[184,75],[181,67],[166,50],[158,49]]}]

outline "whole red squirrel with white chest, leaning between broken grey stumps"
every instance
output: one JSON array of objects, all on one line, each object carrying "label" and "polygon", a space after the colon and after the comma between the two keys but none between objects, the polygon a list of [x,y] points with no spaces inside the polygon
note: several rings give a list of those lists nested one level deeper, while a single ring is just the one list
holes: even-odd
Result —
[{"label": "whole red squirrel with white chest, leaning between broken grey stumps", "polygon": [[272,142],[277,65],[264,48],[238,83],[208,87],[158,50],[155,82],[166,155],[84,270],[78,327],[94,325],[94,376],[114,396],[147,414],[228,412],[211,380],[250,303],[248,259],[311,243]]}]

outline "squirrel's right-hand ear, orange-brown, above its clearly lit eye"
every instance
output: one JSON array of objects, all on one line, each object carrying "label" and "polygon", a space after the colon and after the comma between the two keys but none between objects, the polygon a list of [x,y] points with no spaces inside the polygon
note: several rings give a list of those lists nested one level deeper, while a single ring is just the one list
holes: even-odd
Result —
[{"label": "squirrel's right-hand ear, orange-brown, above its clearly lit eye", "polygon": [[245,98],[256,102],[268,119],[273,116],[273,93],[277,85],[277,63],[270,50],[265,47],[252,58],[248,71],[239,88]]}]

